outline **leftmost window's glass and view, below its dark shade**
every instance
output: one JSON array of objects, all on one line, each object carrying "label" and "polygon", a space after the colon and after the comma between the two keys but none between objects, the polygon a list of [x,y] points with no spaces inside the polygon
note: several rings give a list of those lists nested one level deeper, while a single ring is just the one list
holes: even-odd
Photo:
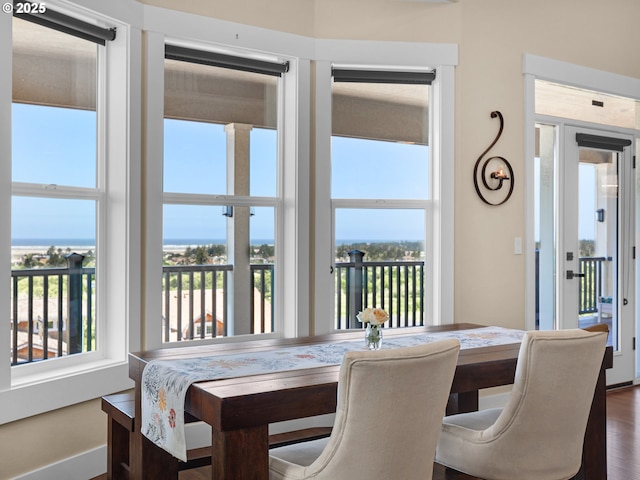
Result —
[{"label": "leftmost window's glass and view, below its dark shade", "polygon": [[99,345],[100,40],[13,19],[12,365]]}]

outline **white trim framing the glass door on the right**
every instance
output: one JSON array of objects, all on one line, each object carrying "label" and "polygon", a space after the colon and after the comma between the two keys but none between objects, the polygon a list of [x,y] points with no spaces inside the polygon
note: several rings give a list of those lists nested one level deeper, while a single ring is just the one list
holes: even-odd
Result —
[{"label": "white trim framing the glass door on the right", "polygon": [[524,54],[524,158],[525,162],[525,325],[535,329],[535,81],[546,80],[621,97],[640,99],[640,80],[595,68]]}]

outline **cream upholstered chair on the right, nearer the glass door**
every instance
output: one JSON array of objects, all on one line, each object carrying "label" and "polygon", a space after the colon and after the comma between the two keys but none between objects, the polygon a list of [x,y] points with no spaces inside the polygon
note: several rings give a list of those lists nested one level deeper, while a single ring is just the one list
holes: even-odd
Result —
[{"label": "cream upholstered chair on the right, nearer the glass door", "polygon": [[606,339],[579,329],[527,332],[507,405],[445,417],[436,461],[487,480],[573,477]]}]

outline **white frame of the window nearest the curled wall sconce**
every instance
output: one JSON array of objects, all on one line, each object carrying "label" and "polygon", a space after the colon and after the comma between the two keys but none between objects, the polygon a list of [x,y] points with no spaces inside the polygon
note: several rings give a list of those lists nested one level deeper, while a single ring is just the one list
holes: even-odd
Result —
[{"label": "white frame of the window nearest the curled wall sconce", "polygon": [[[430,89],[429,138],[430,197],[426,209],[425,321],[434,325],[453,323],[453,169],[454,159],[454,67],[457,45],[404,42],[319,40],[316,61],[315,151],[315,292],[314,334],[335,331],[333,254],[333,208],[331,203],[331,104],[334,64],[369,70],[436,70]],[[411,202],[404,202],[410,205]],[[403,205],[403,201],[394,202]],[[415,206],[415,205],[414,205]],[[389,205],[385,205],[388,208]]]}]

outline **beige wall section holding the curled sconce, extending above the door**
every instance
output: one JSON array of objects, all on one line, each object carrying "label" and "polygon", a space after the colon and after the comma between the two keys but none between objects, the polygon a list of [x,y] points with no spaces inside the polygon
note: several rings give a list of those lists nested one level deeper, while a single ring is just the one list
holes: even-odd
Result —
[{"label": "beige wall section holding the curled sconce, extending above the door", "polygon": [[[634,45],[640,4],[634,0],[461,0],[456,69],[455,319],[524,327],[525,53],[640,78]],[[616,15],[615,24],[606,19]],[[497,132],[492,110],[505,117],[491,151],[513,165],[511,200],[488,207],[472,186],[473,165]]]}]

